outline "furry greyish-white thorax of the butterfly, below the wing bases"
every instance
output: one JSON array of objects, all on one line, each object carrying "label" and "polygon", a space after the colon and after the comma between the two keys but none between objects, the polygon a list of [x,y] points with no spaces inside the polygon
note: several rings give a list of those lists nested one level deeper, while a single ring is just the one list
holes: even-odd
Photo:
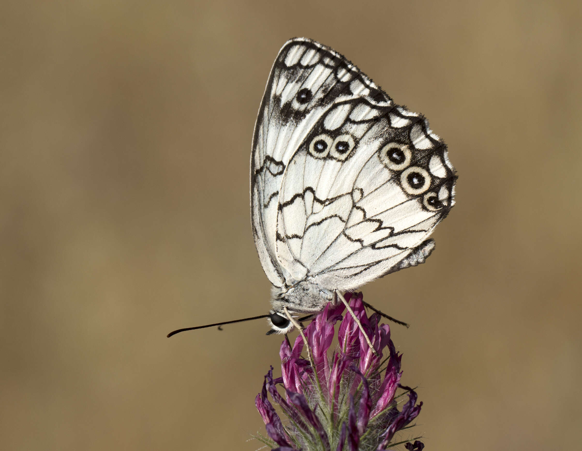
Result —
[{"label": "furry greyish-white thorax of the butterfly, below the wing bases", "polygon": [[287,307],[289,312],[321,312],[333,301],[333,292],[308,281],[300,281],[290,287],[273,288],[271,306],[275,312]]}]

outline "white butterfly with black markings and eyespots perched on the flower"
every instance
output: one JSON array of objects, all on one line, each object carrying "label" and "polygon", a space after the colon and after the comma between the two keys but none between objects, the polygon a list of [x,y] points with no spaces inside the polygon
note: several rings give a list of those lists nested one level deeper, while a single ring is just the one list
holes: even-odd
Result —
[{"label": "white butterfly with black markings and eyespots perched on the flower", "polygon": [[[283,45],[253,136],[251,216],[274,285],[271,333],[289,312],[409,266],[455,204],[455,169],[421,114],[396,105],[356,66],[307,38]],[[287,312],[285,312],[287,310]]]}]

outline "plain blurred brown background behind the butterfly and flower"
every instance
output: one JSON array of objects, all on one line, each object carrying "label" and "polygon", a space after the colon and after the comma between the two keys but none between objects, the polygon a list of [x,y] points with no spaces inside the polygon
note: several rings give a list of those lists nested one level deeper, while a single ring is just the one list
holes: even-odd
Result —
[{"label": "plain blurred brown background behind the butterfly and flower", "polygon": [[[280,338],[249,214],[283,42],[352,59],[449,145],[427,264],[365,287],[428,450],[580,446],[579,1],[2,1],[0,443],[260,448]],[[280,371],[280,370],[278,370]]]}]

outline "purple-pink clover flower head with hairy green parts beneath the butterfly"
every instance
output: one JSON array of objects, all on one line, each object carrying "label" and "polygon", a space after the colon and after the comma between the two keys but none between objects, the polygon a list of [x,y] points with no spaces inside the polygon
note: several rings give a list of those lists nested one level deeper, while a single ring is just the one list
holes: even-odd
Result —
[{"label": "purple-pink clover flower head with hairy green parts beneath the butterfly", "polygon": [[[273,377],[273,367],[265,375],[255,406],[267,428],[268,437],[257,439],[275,451],[357,451],[384,450],[407,442],[395,439],[409,428],[420,413],[417,394],[400,385],[402,355],[390,339],[390,328],[379,324],[378,313],[367,316],[363,295],[345,295],[363,325],[376,353],[369,348],[356,321],[345,306],[328,304],[304,330],[313,365],[301,357],[304,343],[297,337],[293,347],[281,344],[282,377]],[[338,330],[338,348],[328,350]],[[384,358],[383,352],[387,352]],[[285,397],[277,387],[281,386]],[[399,395],[397,389],[403,390]],[[279,406],[288,421],[283,424],[267,395]],[[406,400],[404,395],[408,396]],[[403,404],[399,410],[399,405]],[[418,437],[416,437],[418,438]],[[422,451],[420,441],[407,442],[407,450]]]}]

